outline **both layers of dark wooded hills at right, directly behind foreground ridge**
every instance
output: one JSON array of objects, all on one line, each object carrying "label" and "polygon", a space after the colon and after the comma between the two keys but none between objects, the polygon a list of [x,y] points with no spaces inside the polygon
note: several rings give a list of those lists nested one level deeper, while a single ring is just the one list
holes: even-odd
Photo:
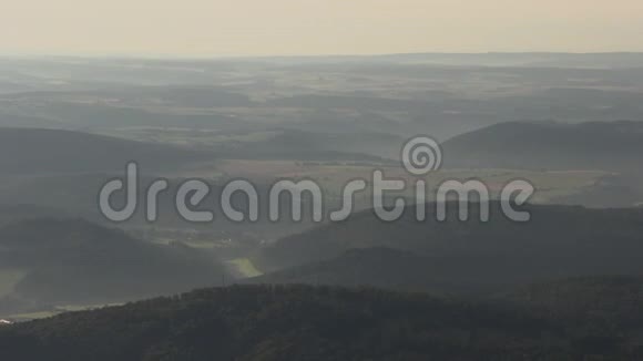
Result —
[{"label": "both layers of dark wooded hills at right, directly behind foreground ridge", "polygon": [[[470,292],[642,272],[643,209],[528,206],[532,220],[517,224],[498,207],[492,204],[489,223],[477,219],[477,205],[466,223],[456,219],[455,204],[445,223],[433,215],[417,221],[415,207],[396,223],[380,221],[371,212],[357,214],[265,248],[256,262],[279,271],[259,280]],[[372,250],[379,247],[385,249]]]}]

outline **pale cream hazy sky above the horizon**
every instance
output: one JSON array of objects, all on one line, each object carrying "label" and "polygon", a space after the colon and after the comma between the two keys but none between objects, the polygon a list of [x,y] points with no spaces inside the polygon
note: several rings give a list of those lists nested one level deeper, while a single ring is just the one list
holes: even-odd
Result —
[{"label": "pale cream hazy sky above the horizon", "polygon": [[643,0],[0,0],[0,53],[643,51]]}]

